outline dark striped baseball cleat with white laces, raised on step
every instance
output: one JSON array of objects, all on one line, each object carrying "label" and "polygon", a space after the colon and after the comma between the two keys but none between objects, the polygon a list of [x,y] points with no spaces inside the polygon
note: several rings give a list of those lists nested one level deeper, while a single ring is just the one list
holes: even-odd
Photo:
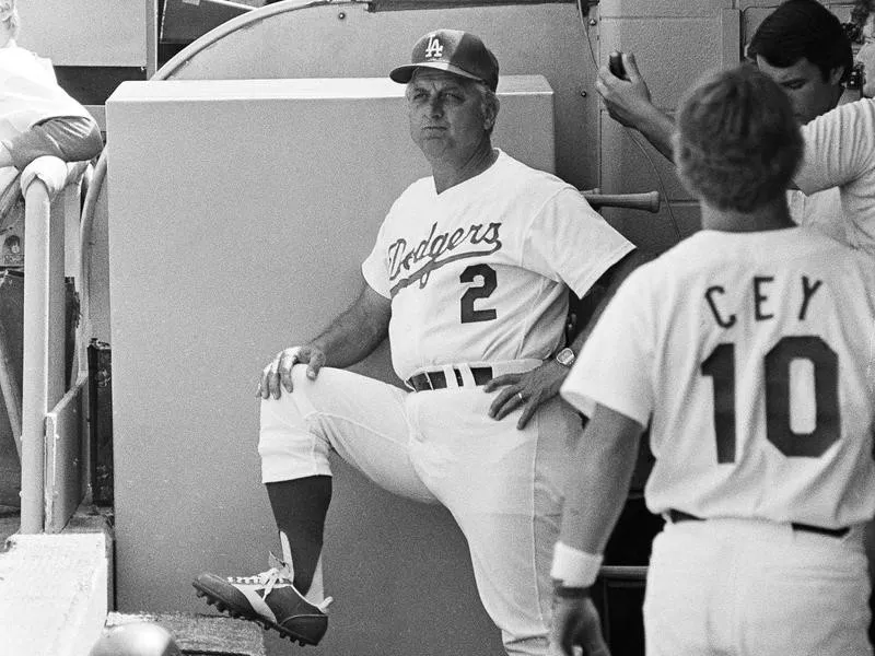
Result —
[{"label": "dark striped baseball cleat with white laces, raised on step", "polygon": [[317,645],[328,629],[328,597],[318,606],[307,601],[292,585],[291,571],[282,563],[255,576],[221,577],[200,574],[191,585],[198,597],[232,618],[273,629],[301,646]]}]

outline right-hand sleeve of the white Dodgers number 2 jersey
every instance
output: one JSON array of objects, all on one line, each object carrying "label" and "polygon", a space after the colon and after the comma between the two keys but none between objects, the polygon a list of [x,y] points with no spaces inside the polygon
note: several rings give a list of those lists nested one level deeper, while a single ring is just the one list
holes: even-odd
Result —
[{"label": "right-hand sleeve of the white Dodgers number 2 jersey", "polygon": [[573,187],[555,194],[536,214],[523,267],[564,282],[583,297],[634,245],[614,230]]}]

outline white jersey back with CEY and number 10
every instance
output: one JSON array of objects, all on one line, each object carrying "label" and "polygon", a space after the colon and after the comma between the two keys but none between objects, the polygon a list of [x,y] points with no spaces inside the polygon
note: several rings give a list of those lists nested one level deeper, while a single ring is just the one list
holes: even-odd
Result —
[{"label": "white jersey back with CEY and number 10", "polygon": [[875,513],[875,267],[795,227],[702,231],[618,290],[562,388],[650,424],[654,513]]}]

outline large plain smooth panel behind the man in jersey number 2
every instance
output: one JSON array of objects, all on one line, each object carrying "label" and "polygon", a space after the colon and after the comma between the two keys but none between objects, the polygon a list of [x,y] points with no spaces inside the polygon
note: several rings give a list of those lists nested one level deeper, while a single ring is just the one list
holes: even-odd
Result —
[{"label": "large plain smooth panel behind the man in jersey number 2", "polygon": [[[206,611],[195,574],[253,574],[277,549],[256,382],[352,301],[383,215],[428,173],[402,93],[386,79],[175,81],[109,98],[120,610]],[[552,169],[546,80],[506,77],[499,96],[497,144]],[[392,377],[385,352],[364,370]],[[325,587],[338,602],[311,652],[501,653],[447,513],[336,473]]]}]

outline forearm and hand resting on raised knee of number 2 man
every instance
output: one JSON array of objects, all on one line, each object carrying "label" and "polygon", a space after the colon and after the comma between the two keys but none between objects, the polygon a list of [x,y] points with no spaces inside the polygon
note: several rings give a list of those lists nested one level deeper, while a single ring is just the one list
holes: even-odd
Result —
[{"label": "forearm and hand resting on raised knee of number 2 man", "polygon": [[292,391],[292,367],[307,365],[307,377],[316,378],[327,365],[346,367],[370,355],[388,335],[392,301],[362,281],[352,305],[318,337],[302,347],[291,347],[277,354],[261,372],[258,395],[280,398],[280,386]]}]

